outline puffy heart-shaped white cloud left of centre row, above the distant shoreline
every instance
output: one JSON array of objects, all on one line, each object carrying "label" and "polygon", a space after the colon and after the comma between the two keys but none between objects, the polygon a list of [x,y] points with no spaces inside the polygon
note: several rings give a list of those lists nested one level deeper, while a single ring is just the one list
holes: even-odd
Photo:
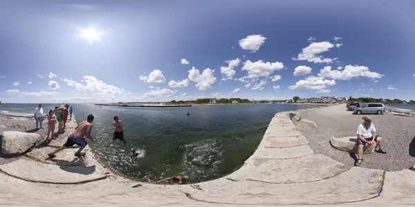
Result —
[{"label": "puffy heart-shaped white cloud left of centre row, above the distant shoreline", "polygon": [[208,90],[212,88],[213,83],[216,82],[216,77],[214,77],[214,70],[207,68],[203,70],[200,74],[199,70],[192,67],[192,70],[189,70],[189,79],[190,81],[196,82],[196,88],[199,90]]}]

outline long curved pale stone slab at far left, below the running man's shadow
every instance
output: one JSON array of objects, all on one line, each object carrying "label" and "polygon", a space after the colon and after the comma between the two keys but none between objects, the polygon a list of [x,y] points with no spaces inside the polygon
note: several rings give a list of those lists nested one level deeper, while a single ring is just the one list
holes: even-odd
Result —
[{"label": "long curved pale stone slab at far left, below the running man's shadow", "polygon": [[80,184],[107,177],[95,166],[57,166],[31,159],[12,161],[1,165],[0,170],[26,181],[49,184]]}]

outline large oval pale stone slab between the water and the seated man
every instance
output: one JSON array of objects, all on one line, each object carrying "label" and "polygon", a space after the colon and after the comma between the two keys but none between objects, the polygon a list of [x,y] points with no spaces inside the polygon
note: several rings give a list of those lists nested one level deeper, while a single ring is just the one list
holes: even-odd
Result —
[{"label": "large oval pale stone slab between the water and the seated man", "polygon": [[246,179],[275,184],[319,181],[340,175],[350,166],[325,155],[306,155],[293,159],[270,159],[252,168]]}]

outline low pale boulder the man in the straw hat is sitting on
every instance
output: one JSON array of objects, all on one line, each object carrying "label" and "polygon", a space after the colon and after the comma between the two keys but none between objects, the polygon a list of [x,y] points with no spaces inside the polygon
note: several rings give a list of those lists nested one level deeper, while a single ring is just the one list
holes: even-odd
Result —
[{"label": "low pale boulder the man in the straw hat is sitting on", "polygon": [[[330,144],[333,148],[344,152],[358,152],[358,146],[356,141],[358,137],[342,137],[342,138],[331,138]],[[375,151],[375,145],[363,148],[363,154],[369,154]]]}]

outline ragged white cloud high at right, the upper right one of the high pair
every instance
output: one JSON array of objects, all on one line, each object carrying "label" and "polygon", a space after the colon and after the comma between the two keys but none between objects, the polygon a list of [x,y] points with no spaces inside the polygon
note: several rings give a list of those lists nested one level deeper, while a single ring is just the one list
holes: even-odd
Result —
[{"label": "ragged white cloud high at right, the upper right one of the high pair", "polygon": [[334,59],[324,58],[319,54],[327,52],[333,47],[333,44],[328,41],[313,42],[306,48],[303,48],[297,58],[292,59],[297,61],[309,61],[312,63],[331,63]]}]

